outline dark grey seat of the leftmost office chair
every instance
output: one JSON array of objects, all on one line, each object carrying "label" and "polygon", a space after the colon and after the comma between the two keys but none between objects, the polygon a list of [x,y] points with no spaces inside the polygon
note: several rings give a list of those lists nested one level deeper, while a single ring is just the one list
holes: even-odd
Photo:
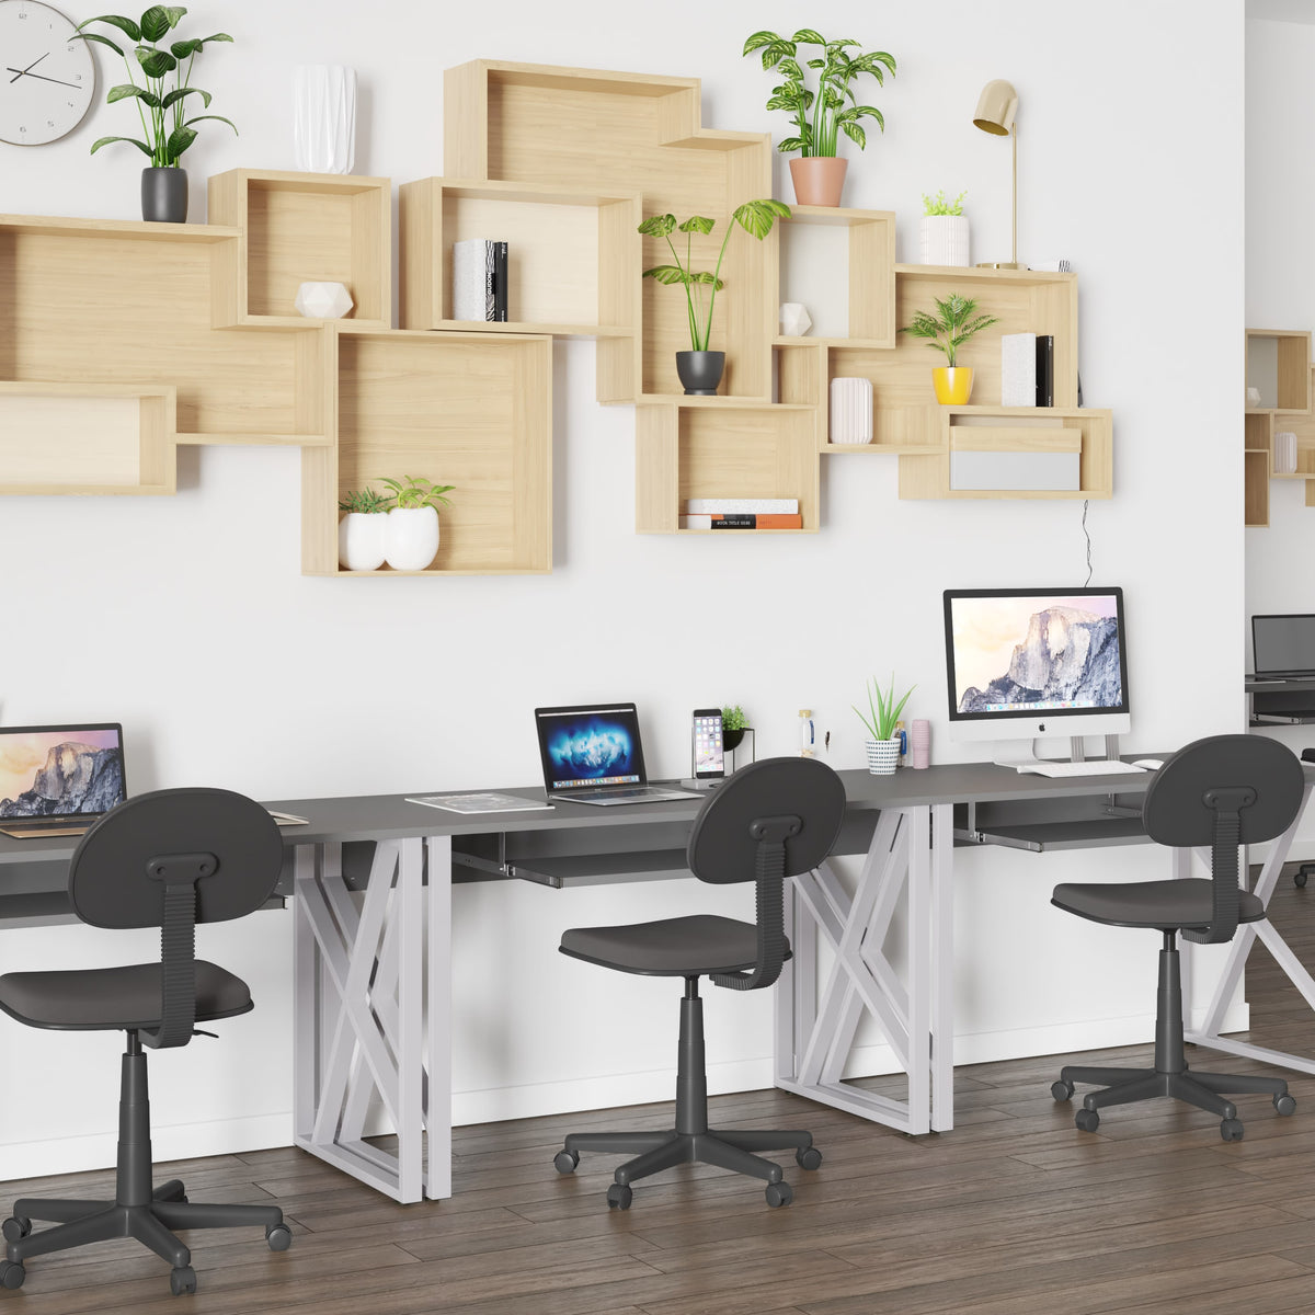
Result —
[{"label": "dark grey seat of the leftmost office chair", "polygon": [[[71,968],[0,977],[0,1009],[29,1027],[143,1031],[160,1026],[160,964]],[[231,1018],[251,1009],[241,977],[196,960],[196,1019]]]}]

